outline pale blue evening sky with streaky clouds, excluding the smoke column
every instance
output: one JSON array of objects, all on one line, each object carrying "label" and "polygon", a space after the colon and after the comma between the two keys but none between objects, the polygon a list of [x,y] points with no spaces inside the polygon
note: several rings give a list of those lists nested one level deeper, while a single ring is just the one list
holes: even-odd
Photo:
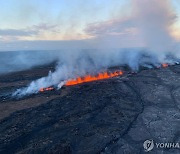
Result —
[{"label": "pale blue evening sky with streaky clouds, excluding the smoke column", "polygon": [[[1,0],[0,50],[56,49],[84,40],[96,42],[105,35],[121,41],[122,47],[129,46],[128,42],[141,46],[141,41],[134,39],[136,29],[126,28],[131,24],[132,1]],[[180,41],[180,1],[169,1],[176,14],[171,35]]]}]

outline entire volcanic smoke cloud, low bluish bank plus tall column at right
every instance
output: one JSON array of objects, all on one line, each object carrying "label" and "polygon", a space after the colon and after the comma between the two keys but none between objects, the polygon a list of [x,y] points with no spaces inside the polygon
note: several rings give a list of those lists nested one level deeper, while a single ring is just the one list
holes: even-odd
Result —
[{"label": "entire volcanic smoke cloud, low bluish bank plus tall column at right", "polygon": [[[61,88],[68,79],[87,73],[96,73],[111,66],[127,64],[133,70],[138,70],[140,65],[151,67],[151,65],[157,66],[160,63],[174,63],[179,59],[180,52],[177,43],[170,35],[170,27],[176,19],[170,1],[133,0],[132,6],[132,15],[129,19],[133,19],[134,28],[137,29],[138,37],[143,41],[144,48],[61,52],[55,72],[50,72],[47,77],[31,82],[28,87],[17,90],[13,95],[24,96],[37,93],[40,88],[52,85]],[[117,26],[121,27],[122,23],[118,22],[118,24]],[[107,28],[110,27],[107,26]],[[104,38],[96,37],[98,47],[104,46],[106,37],[107,35]],[[111,40],[113,43],[113,37]]]}]

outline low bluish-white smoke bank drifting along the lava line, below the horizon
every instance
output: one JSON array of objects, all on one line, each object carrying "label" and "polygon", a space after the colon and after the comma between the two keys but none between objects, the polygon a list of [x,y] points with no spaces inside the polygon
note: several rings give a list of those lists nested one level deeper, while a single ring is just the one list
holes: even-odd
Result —
[{"label": "low bluish-white smoke bank drifting along the lava line, below the horizon", "polygon": [[132,70],[138,70],[139,66],[151,68],[152,65],[159,66],[161,63],[173,63],[174,61],[168,58],[168,54],[163,54],[164,59],[159,59],[157,54],[142,49],[90,50],[74,51],[73,55],[66,53],[66,56],[64,56],[62,54],[55,72],[49,72],[47,77],[31,82],[28,87],[18,89],[13,96],[22,97],[38,93],[42,87],[52,85],[60,89],[68,79],[86,74],[96,74],[105,71],[110,66],[128,65]]}]

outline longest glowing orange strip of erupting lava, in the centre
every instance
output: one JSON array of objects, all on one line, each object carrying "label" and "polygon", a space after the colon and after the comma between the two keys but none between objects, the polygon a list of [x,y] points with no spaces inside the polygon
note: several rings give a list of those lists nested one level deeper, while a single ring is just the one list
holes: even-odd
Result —
[{"label": "longest glowing orange strip of erupting lava, in the centre", "polygon": [[123,75],[122,71],[116,71],[113,73],[104,72],[104,73],[99,73],[97,76],[87,75],[85,77],[78,77],[76,79],[69,80],[65,83],[65,85],[71,86],[71,85],[76,85],[76,84],[85,83],[85,82],[109,79],[109,78],[120,76],[120,75]]}]

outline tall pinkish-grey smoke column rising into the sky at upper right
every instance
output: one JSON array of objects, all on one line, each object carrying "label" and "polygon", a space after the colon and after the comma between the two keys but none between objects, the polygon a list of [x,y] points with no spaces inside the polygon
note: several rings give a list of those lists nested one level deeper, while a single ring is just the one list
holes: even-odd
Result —
[{"label": "tall pinkish-grey smoke column rising into the sky at upper right", "polygon": [[133,12],[145,46],[152,51],[171,51],[175,40],[170,27],[175,22],[169,0],[133,0]]}]

